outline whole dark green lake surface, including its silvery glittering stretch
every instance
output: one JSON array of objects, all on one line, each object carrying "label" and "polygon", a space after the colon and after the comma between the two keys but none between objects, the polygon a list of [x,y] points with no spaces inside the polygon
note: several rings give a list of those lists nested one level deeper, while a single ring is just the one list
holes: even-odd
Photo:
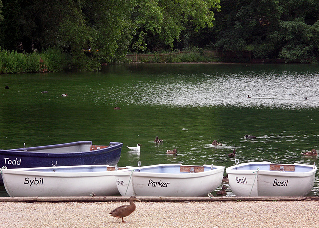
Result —
[{"label": "whole dark green lake surface, including its silvery glittering stretch", "polygon": [[[234,148],[240,163],[318,166],[317,157],[301,155],[319,150],[318,65],[130,64],[99,73],[1,75],[0,88],[1,149],[119,141],[120,166],[229,167]],[[155,136],[164,143],[154,144]],[[212,146],[214,139],[223,146]],[[137,143],[139,153],[126,147]],[[174,148],[177,155],[166,154]],[[310,195],[319,196],[318,173]]]}]

